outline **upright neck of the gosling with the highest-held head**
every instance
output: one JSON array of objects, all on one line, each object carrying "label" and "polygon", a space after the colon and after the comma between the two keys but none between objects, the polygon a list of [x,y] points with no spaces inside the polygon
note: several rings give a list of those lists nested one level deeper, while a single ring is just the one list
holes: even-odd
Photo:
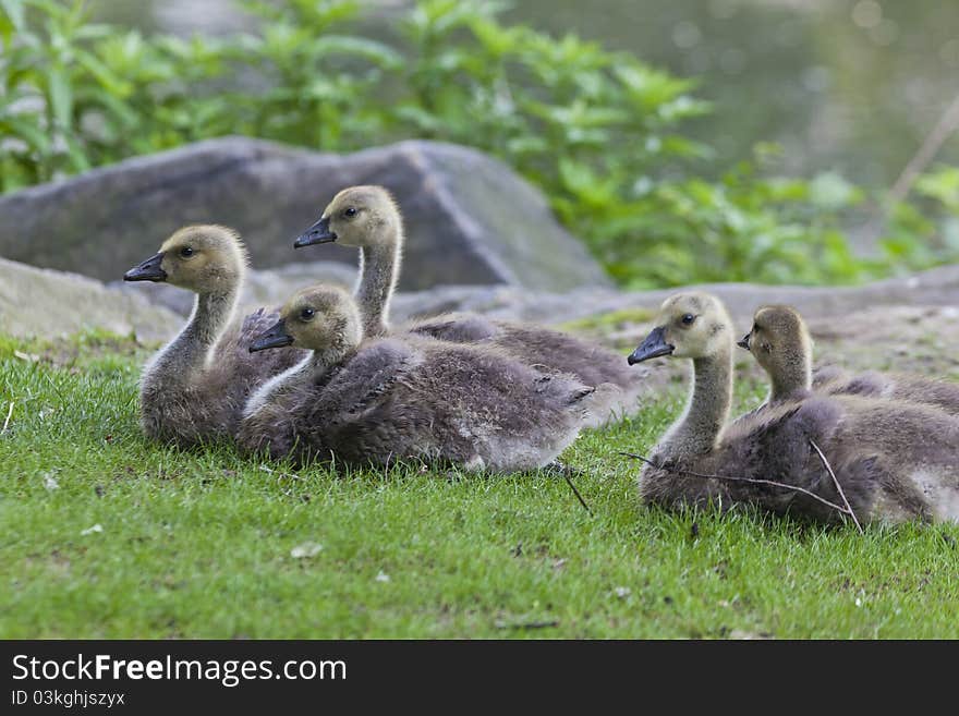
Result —
[{"label": "upright neck of the gosling with the highest-held head", "polygon": [[385,221],[377,241],[360,248],[356,303],[363,316],[364,336],[383,336],[389,329],[389,304],[397,288],[403,246],[403,229]]}]

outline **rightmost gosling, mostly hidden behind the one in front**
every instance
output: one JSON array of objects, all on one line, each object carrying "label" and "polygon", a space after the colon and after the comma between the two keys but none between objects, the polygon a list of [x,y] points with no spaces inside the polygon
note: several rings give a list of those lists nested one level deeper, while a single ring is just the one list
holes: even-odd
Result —
[{"label": "rightmost gosling, mostly hidden behind the one in front", "polygon": [[833,367],[813,373],[812,337],[791,306],[761,306],[738,345],[750,351],[769,375],[767,404],[802,398],[815,390],[924,403],[959,416],[959,385],[955,383],[876,371],[850,375]]}]

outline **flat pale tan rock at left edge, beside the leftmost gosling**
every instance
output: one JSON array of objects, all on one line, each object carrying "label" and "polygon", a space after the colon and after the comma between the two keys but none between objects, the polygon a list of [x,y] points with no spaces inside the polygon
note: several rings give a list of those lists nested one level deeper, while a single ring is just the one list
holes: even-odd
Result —
[{"label": "flat pale tan rock at left edge, beside the leftmost gosling", "polygon": [[183,318],[99,281],[0,258],[0,333],[56,338],[89,328],[145,341],[170,337]]}]

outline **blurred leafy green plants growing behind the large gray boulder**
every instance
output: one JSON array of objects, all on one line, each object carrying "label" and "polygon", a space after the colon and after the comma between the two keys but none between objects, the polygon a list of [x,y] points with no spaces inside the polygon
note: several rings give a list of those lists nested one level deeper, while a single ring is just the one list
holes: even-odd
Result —
[{"label": "blurred leafy green plants growing behind the large gray boulder", "polygon": [[[423,137],[488,151],[537,184],[623,286],[850,283],[959,259],[959,169],[885,206],[841,177],[774,175],[775,148],[718,181],[681,125],[694,85],[573,35],[499,20],[503,5],[418,0],[389,43],[353,0],[238,0],[253,34],[143,37],[81,0],[0,0],[0,190],[199,138],[244,134],[349,151]],[[875,221],[873,221],[875,223]]]}]

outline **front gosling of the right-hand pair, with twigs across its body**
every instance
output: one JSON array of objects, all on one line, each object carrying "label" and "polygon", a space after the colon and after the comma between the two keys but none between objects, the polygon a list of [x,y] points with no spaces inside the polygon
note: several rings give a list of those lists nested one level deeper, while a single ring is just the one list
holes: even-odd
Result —
[{"label": "front gosling of the right-hand pair, with twigs across its body", "polygon": [[824,522],[840,519],[848,500],[863,523],[959,521],[959,420],[925,405],[805,395],[727,426],[735,338],[725,306],[709,294],[676,294],[655,326],[629,363],[690,359],[693,387],[641,472],[644,500],[749,502]]}]

